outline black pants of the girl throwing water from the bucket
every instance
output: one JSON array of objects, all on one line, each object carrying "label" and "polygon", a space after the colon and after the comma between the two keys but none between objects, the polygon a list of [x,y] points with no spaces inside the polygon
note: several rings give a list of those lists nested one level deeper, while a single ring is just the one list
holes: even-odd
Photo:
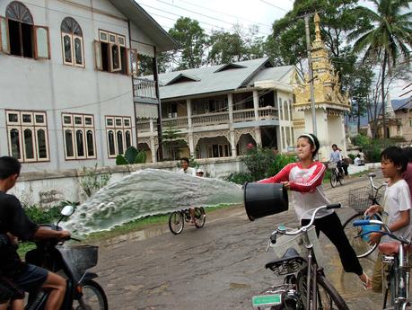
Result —
[{"label": "black pants of the girl throwing water from the bucket", "polygon": [[[302,219],[301,223],[302,226],[305,226],[308,225],[309,222],[309,219]],[[316,228],[316,235],[318,235],[318,238],[320,232],[322,232],[328,237],[330,242],[335,245],[337,252],[339,252],[340,261],[342,261],[344,270],[346,272],[354,272],[360,276],[364,270],[356,257],[352,245],[350,245],[349,240],[347,240],[337,214],[334,212],[329,216],[316,218],[313,225]]]}]

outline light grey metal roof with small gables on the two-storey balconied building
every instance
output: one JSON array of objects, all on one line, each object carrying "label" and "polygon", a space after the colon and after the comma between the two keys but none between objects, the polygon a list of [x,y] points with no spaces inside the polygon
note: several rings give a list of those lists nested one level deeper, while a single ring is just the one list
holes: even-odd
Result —
[{"label": "light grey metal roof with small gables on the two-storey balconied building", "polygon": [[[274,80],[289,83],[282,79],[294,66],[271,66],[268,58],[259,58],[234,63],[241,66],[216,72],[219,66],[204,66],[197,69],[169,72],[159,75],[160,97],[162,99],[193,96],[201,93],[217,93],[236,90],[241,86],[250,84],[250,81]],[[224,65],[227,66],[227,65]],[[180,82],[168,85],[179,75],[189,75],[198,79],[196,82]],[[146,76],[152,78],[153,76]]]}]

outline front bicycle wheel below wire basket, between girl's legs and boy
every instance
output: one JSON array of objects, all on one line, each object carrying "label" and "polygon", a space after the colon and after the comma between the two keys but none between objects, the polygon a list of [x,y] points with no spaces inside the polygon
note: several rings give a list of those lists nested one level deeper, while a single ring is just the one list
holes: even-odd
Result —
[{"label": "front bicycle wheel below wire basket, between girl's legs and boy", "polygon": [[[381,217],[376,217],[381,220]],[[364,238],[359,237],[359,235],[362,234],[362,226],[354,226],[354,221],[359,219],[364,219],[364,213],[356,213],[354,216],[349,217],[344,223],[343,229],[349,243],[355,250],[356,256],[358,258],[363,258],[372,253],[378,244],[370,245]]]}]

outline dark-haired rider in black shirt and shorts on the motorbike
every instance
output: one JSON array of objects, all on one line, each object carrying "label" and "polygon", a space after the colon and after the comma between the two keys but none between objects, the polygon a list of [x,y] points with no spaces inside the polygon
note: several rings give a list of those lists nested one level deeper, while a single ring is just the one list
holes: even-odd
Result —
[{"label": "dark-haired rider in black shirt and shorts on the motorbike", "polygon": [[[21,164],[13,157],[0,157],[0,234],[15,235],[21,240],[58,239],[70,237],[62,230],[43,229],[24,213],[19,199],[7,194],[19,177]],[[45,310],[60,309],[66,292],[66,280],[56,273],[21,261],[16,249],[9,248],[0,258],[0,272],[25,291],[39,288],[49,291]]]}]

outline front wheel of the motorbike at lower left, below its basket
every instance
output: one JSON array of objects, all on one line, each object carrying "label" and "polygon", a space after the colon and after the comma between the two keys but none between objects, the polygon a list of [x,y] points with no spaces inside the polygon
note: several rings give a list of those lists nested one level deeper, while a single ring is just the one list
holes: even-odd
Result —
[{"label": "front wheel of the motorbike at lower left, below its basket", "polygon": [[83,296],[79,300],[74,300],[75,310],[108,310],[108,298],[103,288],[92,279],[84,282]]}]

